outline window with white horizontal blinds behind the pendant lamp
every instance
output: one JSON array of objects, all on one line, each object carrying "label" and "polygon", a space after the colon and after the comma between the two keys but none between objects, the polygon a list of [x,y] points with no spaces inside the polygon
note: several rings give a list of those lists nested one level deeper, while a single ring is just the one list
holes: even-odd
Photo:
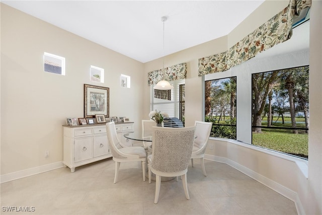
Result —
[{"label": "window with white horizontal blinds behind the pendant lamp", "polygon": [[170,84],[174,86],[173,90],[154,90],[150,86],[150,110],[165,112],[169,117],[176,117],[184,122],[185,80],[176,80]]}]

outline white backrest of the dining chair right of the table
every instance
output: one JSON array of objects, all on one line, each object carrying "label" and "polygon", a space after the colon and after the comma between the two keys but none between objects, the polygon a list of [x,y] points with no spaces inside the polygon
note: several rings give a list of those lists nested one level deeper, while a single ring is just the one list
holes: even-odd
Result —
[{"label": "white backrest of the dining chair right of the table", "polygon": [[212,128],[212,122],[202,122],[195,121],[196,131],[195,131],[195,140],[194,146],[201,148],[206,148]]}]

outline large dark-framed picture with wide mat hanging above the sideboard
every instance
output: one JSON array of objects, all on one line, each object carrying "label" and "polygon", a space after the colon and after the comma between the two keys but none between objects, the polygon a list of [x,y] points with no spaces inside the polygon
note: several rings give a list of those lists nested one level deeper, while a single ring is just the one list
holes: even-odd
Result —
[{"label": "large dark-framed picture with wide mat hanging above the sideboard", "polygon": [[109,117],[110,89],[84,84],[84,118],[94,118],[95,115]]}]

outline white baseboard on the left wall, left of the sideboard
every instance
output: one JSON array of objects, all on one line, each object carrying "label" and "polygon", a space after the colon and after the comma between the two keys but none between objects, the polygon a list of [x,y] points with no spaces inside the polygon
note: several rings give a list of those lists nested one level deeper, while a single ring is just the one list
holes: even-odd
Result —
[{"label": "white baseboard on the left wall, left of the sideboard", "polygon": [[22,171],[18,171],[18,172],[13,172],[13,173],[1,175],[0,176],[0,183],[5,183],[8,181],[17,180],[20,178],[24,178],[24,177],[31,176],[31,175],[36,175],[39,173],[47,172],[47,171],[58,169],[61,167],[64,167],[64,164],[61,161],[59,161],[59,162],[52,163],[52,164],[47,164],[47,165],[43,165],[43,166],[39,166],[39,167],[30,168],[27,170],[22,170]]}]

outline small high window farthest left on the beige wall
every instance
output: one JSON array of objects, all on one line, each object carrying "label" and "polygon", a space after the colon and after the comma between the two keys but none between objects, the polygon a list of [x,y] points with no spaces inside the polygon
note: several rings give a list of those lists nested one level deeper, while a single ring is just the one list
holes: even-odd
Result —
[{"label": "small high window farthest left on the beige wall", "polygon": [[44,52],[44,71],[65,75],[65,58]]}]

